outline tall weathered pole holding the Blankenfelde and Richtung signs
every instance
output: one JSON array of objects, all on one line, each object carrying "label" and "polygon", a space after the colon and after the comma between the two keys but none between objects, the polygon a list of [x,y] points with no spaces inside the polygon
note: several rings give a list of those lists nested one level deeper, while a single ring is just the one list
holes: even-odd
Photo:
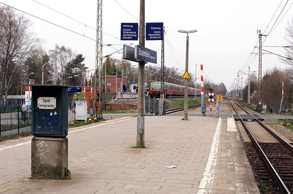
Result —
[{"label": "tall weathered pole holding the Blankenfelde and Richtung signs", "polygon": [[[139,46],[144,47],[144,0],[140,0]],[[138,62],[136,146],[144,147],[144,61]]]}]

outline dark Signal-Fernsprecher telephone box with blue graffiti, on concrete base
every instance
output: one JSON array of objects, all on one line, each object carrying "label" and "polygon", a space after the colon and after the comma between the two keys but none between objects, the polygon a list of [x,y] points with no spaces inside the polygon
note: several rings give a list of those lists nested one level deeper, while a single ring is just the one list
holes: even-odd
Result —
[{"label": "dark Signal-Fernsprecher telephone box with blue graffiti, on concrete base", "polygon": [[32,84],[31,135],[68,135],[68,86]]}]

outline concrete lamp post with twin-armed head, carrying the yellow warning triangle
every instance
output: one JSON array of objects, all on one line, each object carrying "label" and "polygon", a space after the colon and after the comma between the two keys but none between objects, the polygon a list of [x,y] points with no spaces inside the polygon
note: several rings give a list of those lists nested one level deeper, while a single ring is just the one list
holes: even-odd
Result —
[{"label": "concrete lamp post with twin-armed head, carrying the yellow warning triangle", "polygon": [[[197,30],[178,30],[178,32],[186,33],[186,57],[185,57],[185,70],[188,71],[188,33],[197,32]],[[188,119],[187,116],[187,106],[188,106],[188,79],[185,79],[185,89],[184,89],[184,120]]]}]

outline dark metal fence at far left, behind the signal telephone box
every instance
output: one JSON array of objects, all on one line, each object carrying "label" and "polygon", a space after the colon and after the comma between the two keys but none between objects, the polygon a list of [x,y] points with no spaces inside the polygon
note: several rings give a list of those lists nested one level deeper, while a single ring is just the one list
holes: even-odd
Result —
[{"label": "dark metal fence at far left, behind the signal telephone box", "polygon": [[19,134],[31,129],[31,114],[21,112],[20,106],[7,110],[0,107],[0,135]]}]

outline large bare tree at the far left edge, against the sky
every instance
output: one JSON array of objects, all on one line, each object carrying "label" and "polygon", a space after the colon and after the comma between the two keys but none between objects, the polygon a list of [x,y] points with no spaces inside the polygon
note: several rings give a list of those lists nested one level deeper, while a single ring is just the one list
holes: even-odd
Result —
[{"label": "large bare tree at the far left edge, against the sky", "polygon": [[31,26],[23,15],[0,6],[0,102],[19,80],[19,75],[24,74],[25,59],[41,43],[31,32]]}]

